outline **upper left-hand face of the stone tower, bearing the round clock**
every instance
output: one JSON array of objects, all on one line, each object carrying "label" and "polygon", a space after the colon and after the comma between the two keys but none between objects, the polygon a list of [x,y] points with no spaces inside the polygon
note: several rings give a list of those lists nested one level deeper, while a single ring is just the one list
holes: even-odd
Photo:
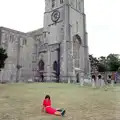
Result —
[{"label": "upper left-hand face of the stone tower, bearing the round clock", "polygon": [[49,44],[60,43],[64,38],[64,1],[45,0],[44,31]]}]

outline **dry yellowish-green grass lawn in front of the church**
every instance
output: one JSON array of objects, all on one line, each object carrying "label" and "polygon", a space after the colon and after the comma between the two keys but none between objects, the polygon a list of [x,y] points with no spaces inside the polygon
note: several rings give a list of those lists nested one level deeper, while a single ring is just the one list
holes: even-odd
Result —
[{"label": "dry yellowish-green grass lawn in front of the church", "polygon": [[[65,108],[65,117],[41,113],[50,94],[53,107]],[[93,89],[75,84],[0,84],[0,120],[120,120],[120,86]]]}]

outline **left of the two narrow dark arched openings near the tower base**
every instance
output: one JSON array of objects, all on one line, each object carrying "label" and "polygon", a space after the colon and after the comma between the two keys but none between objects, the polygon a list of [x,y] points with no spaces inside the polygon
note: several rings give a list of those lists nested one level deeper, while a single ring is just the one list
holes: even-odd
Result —
[{"label": "left of the two narrow dark arched openings near the tower base", "polygon": [[45,66],[44,61],[40,60],[38,66],[39,66],[40,80],[41,82],[44,82],[44,66]]}]

